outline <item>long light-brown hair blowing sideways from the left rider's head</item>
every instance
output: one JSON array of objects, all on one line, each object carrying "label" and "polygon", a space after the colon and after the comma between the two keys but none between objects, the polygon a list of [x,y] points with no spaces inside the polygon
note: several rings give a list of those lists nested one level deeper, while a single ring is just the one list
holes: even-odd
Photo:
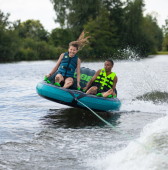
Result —
[{"label": "long light-brown hair blowing sideways from the left rider's head", "polygon": [[81,35],[79,36],[79,38],[76,41],[72,41],[72,42],[69,43],[69,47],[73,46],[73,47],[76,47],[78,51],[82,50],[82,48],[86,44],[89,44],[88,38],[91,37],[91,36],[87,36],[86,38],[84,38],[84,36],[85,36],[85,31],[83,30]]}]

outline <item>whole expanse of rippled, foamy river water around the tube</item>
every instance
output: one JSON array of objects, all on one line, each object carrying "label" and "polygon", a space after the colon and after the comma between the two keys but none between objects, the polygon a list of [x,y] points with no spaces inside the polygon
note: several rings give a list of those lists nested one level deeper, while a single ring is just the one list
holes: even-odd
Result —
[{"label": "whole expanse of rippled, foamy river water around the tube", "polygon": [[0,169],[168,169],[168,56],[114,63],[122,107],[99,115],[127,136],[90,111],[38,96],[56,61],[0,64]]}]

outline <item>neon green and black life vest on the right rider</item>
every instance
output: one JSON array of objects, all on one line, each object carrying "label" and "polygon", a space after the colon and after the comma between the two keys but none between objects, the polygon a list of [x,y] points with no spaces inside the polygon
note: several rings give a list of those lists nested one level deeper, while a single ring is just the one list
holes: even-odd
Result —
[{"label": "neon green and black life vest on the right rider", "polygon": [[105,68],[103,68],[94,82],[96,84],[100,83],[99,90],[107,91],[113,87],[113,80],[115,76],[116,76],[116,73],[114,72],[111,72],[111,74],[106,76]]}]

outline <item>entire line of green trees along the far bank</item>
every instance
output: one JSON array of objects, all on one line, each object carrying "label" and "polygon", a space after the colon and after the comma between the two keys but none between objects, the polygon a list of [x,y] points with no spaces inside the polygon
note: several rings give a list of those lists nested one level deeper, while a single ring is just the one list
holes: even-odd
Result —
[{"label": "entire line of green trees along the far bank", "polygon": [[78,52],[82,59],[121,57],[128,47],[141,57],[168,50],[168,19],[161,29],[155,16],[143,16],[143,0],[50,1],[61,26],[50,33],[39,20],[12,23],[0,11],[1,62],[58,59],[83,30],[92,38]]}]

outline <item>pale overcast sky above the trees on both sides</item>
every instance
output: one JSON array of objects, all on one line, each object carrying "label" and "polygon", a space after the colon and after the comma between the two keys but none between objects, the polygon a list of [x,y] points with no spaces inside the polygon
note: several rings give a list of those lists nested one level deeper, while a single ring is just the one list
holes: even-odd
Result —
[{"label": "pale overcast sky above the trees on both sides", "polygon": [[[145,5],[144,14],[157,12],[159,26],[164,25],[168,18],[168,0],[145,0]],[[9,20],[12,22],[18,19],[21,22],[28,19],[40,20],[49,32],[59,27],[54,22],[56,15],[50,0],[0,0],[0,10],[5,14],[10,13]]]}]

